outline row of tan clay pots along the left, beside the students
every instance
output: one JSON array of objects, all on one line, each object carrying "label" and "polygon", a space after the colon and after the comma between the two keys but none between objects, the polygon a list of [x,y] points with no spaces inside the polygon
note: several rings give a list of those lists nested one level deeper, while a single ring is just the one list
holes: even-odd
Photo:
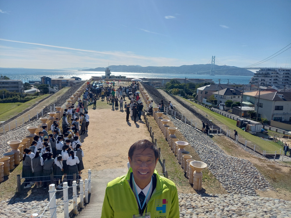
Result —
[{"label": "row of tan clay pots along the left, beside the students", "polygon": [[[66,104],[66,108],[74,104],[78,96],[81,95],[88,86],[88,82],[83,84],[77,92],[73,94],[70,99],[68,99],[68,104]],[[22,140],[12,140],[7,142],[7,144],[11,147],[11,149],[3,154],[3,157],[0,158],[0,182],[4,181],[4,176],[8,176],[10,174],[10,170],[14,169],[16,165],[20,164],[20,161],[23,157],[23,150],[25,148],[29,148],[33,142],[33,137],[36,136],[40,131],[43,130],[43,126],[50,127],[56,118],[61,119],[63,115],[64,109],[62,107],[56,107],[56,112],[47,113],[49,117],[41,117],[39,118],[41,124],[39,126],[29,126],[27,130],[29,131],[29,135],[27,135]]]}]

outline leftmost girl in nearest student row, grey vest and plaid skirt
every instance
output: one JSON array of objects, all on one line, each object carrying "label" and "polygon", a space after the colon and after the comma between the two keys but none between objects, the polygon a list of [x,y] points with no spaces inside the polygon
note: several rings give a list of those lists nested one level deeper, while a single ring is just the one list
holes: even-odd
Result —
[{"label": "leftmost girl in nearest student row, grey vest and plaid skirt", "polygon": [[22,178],[26,178],[24,180],[24,188],[30,188],[31,185],[33,185],[33,182],[31,181],[31,178],[33,174],[32,174],[32,168],[31,168],[31,157],[29,156],[29,154],[31,153],[31,149],[24,149],[23,151],[24,155],[22,158]]}]

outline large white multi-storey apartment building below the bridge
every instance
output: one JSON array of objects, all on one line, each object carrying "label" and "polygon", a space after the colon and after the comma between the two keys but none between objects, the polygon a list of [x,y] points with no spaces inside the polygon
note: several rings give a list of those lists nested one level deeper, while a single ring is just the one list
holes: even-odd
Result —
[{"label": "large white multi-storey apartment building below the bridge", "polygon": [[255,75],[251,78],[253,85],[262,86],[284,86],[291,84],[290,69],[286,68],[266,68],[260,69],[255,72]]}]

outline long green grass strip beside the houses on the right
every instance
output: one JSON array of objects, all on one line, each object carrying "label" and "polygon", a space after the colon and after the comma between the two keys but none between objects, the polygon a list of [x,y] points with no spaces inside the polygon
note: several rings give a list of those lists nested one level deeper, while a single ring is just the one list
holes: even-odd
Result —
[{"label": "long green grass strip beside the houses on the right", "polygon": [[206,112],[207,114],[211,115],[212,117],[214,117],[215,119],[219,120],[221,123],[223,123],[224,125],[228,126],[229,129],[236,129],[238,135],[244,137],[246,140],[253,142],[256,146],[259,146],[259,148],[263,151],[278,151],[280,150],[280,148],[282,148],[282,146],[280,146],[279,144],[277,144],[276,142],[268,142],[268,141],[264,141],[262,139],[260,139],[257,136],[251,135],[250,133],[247,133],[239,128],[237,128],[236,126],[236,121],[229,119],[227,117],[224,117],[218,113],[215,113],[201,105],[198,105],[192,101],[186,100],[189,103],[191,103],[192,105],[194,105],[195,107],[199,108],[200,110],[203,110],[204,112]]}]

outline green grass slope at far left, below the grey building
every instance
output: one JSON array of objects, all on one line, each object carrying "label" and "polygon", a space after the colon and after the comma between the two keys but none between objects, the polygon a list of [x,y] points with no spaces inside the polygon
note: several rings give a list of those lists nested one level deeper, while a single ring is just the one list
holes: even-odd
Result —
[{"label": "green grass slope at far left, below the grey building", "polygon": [[36,104],[36,101],[40,101],[44,99],[45,97],[49,96],[49,94],[42,95],[40,97],[37,97],[35,99],[32,99],[30,101],[26,101],[24,103],[1,103],[0,104],[0,120],[6,121],[10,119],[11,117],[14,117],[15,115],[19,114],[20,112],[24,111],[25,109],[33,106]]}]

